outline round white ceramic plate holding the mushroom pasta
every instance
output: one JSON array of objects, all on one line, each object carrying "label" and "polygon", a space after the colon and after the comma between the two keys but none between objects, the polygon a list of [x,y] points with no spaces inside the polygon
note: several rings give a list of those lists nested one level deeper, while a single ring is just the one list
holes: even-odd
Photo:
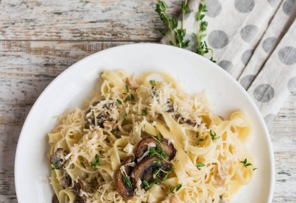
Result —
[{"label": "round white ceramic plate holding the mushroom pasta", "polygon": [[228,116],[238,109],[246,112],[253,127],[247,147],[258,170],[233,202],[272,202],[274,156],[270,135],[247,92],[219,66],[197,54],[168,45],[134,44],[82,59],[42,92],[26,118],[17,144],[15,188],[20,203],[52,202],[47,133],[56,125],[55,116],[69,107],[81,106],[106,69],[125,69],[136,74],[163,70],[182,82],[190,93],[205,91],[216,114]]}]

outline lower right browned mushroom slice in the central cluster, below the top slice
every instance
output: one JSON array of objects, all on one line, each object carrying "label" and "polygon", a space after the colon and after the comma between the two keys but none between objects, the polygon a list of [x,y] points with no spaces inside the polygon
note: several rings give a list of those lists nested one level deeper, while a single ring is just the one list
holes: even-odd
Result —
[{"label": "lower right browned mushroom slice in the central cluster, below the top slice", "polygon": [[[171,163],[168,163],[166,160],[162,160],[160,164],[157,162],[158,158],[153,156],[152,158],[145,158],[141,160],[133,169],[132,169],[132,183],[137,184],[138,179],[143,181],[146,179],[148,182],[153,182],[153,172],[159,170],[160,168],[164,171],[171,169]],[[143,188],[143,183],[141,183],[141,188]]]}]

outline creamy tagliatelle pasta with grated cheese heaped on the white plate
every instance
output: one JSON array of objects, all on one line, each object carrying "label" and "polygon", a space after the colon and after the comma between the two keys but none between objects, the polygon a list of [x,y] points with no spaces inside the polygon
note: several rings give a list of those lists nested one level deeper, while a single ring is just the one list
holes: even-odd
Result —
[{"label": "creamy tagliatelle pasta with grated cheese heaped on the white plate", "polygon": [[[166,73],[135,77],[106,70],[101,76],[101,92],[84,110],[60,116],[48,135],[56,201],[230,202],[249,182],[254,165],[244,147],[250,126],[243,112],[228,119],[215,115],[203,94],[189,96]],[[173,144],[173,167],[165,179],[145,188],[143,179],[131,181],[132,197],[124,198],[116,173],[129,183],[134,174],[121,166],[151,136]],[[151,157],[149,147],[155,145],[143,157]],[[141,159],[134,162],[129,167]]]}]

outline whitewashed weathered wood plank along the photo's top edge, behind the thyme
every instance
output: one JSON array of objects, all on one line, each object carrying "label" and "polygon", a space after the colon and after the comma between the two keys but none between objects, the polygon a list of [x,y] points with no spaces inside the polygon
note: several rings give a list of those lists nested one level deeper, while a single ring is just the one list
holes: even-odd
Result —
[{"label": "whitewashed weathered wood plank along the photo's top edge, behind the thyme", "polygon": [[[166,0],[169,13],[180,0]],[[153,40],[161,38],[156,0],[0,1],[0,40]]]}]

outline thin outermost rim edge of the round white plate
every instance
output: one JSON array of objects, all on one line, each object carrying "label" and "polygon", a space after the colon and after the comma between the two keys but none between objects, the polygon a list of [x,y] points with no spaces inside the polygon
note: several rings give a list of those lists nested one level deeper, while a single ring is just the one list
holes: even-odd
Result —
[{"label": "thin outermost rim edge of the round white plate", "polygon": [[266,126],[266,123],[263,119],[262,114],[260,113],[260,111],[258,110],[258,107],[256,106],[256,104],[254,103],[254,100],[251,98],[251,96],[249,96],[249,93],[247,93],[247,91],[240,85],[239,82],[237,82],[237,80],[235,80],[229,73],[226,72],[226,70],[222,69],[220,66],[217,65],[217,63],[213,63],[212,61],[206,59],[205,57],[201,57],[200,55],[191,52],[189,50],[185,50],[179,47],[173,47],[171,45],[163,45],[163,44],[159,44],[159,43],[133,43],[133,44],[126,44],[126,45],[118,45],[115,47],[109,47],[105,50],[101,50],[99,52],[95,52],[93,54],[88,55],[87,57],[84,57],[83,59],[80,59],[79,61],[73,63],[71,66],[69,66],[68,68],[65,68],[65,70],[63,70],[61,73],[59,73],[59,75],[57,75],[54,80],[52,80],[52,82],[50,82],[47,87],[45,87],[45,89],[40,93],[40,95],[38,96],[38,98],[36,99],[36,101],[33,103],[29,113],[26,116],[26,119],[24,121],[24,124],[22,126],[22,130],[20,131],[20,136],[17,140],[17,148],[15,151],[15,162],[14,162],[14,179],[15,179],[15,193],[17,196],[17,201],[20,202],[20,188],[17,184],[18,182],[18,178],[17,178],[17,174],[18,174],[18,170],[17,168],[19,168],[19,159],[20,159],[20,149],[21,149],[21,144],[22,144],[22,140],[24,140],[25,134],[24,131],[26,130],[26,126],[27,123],[29,121],[29,118],[31,117],[31,114],[33,112],[33,110],[36,108],[36,106],[38,105],[39,101],[41,100],[42,96],[45,95],[45,93],[54,85],[54,83],[56,83],[56,81],[59,80],[60,77],[63,77],[64,75],[66,75],[68,72],[72,71],[75,67],[79,66],[79,63],[82,63],[84,61],[87,61],[88,59],[90,59],[91,57],[95,57],[98,54],[102,54],[104,52],[112,52],[113,50],[118,50],[118,49],[122,49],[124,47],[130,47],[130,49],[133,49],[134,47],[145,47],[145,46],[151,46],[151,47],[166,47],[167,49],[171,49],[171,50],[178,50],[180,52],[184,52],[185,54],[192,54],[195,57],[198,57],[198,60],[202,60],[205,61],[205,63],[212,63],[211,66],[213,66],[213,68],[217,69],[221,74],[223,74],[225,77],[228,78],[228,80],[231,80],[239,89],[240,91],[243,92],[244,96],[246,96],[247,100],[249,101],[249,103],[251,104],[251,107],[253,107],[254,111],[256,112],[256,116],[258,116],[258,119],[260,121],[260,126],[263,127],[263,131],[264,131],[264,136],[265,138],[267,138],[267,146],[268,146],[268,150],[269,150],[269,154],[270,154],[270,163],[272,165],[271,170],[270,170],[270,188],[269,188],[269,197],[268,197],[268,202],[272,202],[272,197],[274,195],[274,184],[275,184],[275,163],[274,163],[274,150],[272,147],[272,141],[271,141],[271,137],[270,137],[270,133],[269,130]]}]

